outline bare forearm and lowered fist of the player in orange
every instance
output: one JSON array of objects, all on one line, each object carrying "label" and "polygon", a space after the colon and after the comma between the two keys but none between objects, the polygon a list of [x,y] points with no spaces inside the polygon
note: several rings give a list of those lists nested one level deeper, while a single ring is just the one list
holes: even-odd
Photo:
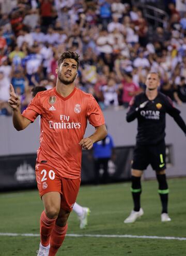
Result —
[{"label": "bare forearm and lowered fist of the player in orange", "polygon": [[95,127],[95,129],[96,131],[91,136],[80,141],[79,144],[83,147],[83,149],[90,150],[95,142],[103,140],[106,137],[107,130],[105,125],[100,125]]}]

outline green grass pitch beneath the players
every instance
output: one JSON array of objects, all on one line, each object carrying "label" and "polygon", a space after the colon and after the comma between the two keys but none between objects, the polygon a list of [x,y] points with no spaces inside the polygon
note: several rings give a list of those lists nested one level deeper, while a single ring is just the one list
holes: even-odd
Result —
[{"label": "green grass pitch beneath the players", "polygon": [[[74,212],[69,217],[68,234],[136,235],[186,237],[186,178],[169,179],[169,215],[171,222],[161,223],[161,205],[157,181],[143,181],[142,207],[145,214],[133,224],[125,224],[132,209],[129,182],[82,186],[77,203],[91,210],[88,226],[80,230]],[[39,234],[39,218],[43,209],[37,191],[0,194],[0,233]],[[3,236],[0,234],[1,256],[36,256],[39,237]],[[184,256],[186,240],[71,237],[65,238],[57,255],[68,256]]]}]

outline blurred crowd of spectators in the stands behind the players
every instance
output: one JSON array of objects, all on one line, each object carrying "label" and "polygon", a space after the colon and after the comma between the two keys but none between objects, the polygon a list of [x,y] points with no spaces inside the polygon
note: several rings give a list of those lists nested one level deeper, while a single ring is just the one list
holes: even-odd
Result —
[{"label": "blurred crowd of spectators in the stands behind the players", "polygon": [[128,107],[150,71],[160,74],[163,93],[186,102],[186,12],[167,2],[169,18],[149,39],[143,10],[131,1],[0,0],[0,114],[11,115],[10,83],[22,110],[33,87],[54,87],[57,59],[66,50],[80,55],[76,87],[92,93],[102,109]]}]

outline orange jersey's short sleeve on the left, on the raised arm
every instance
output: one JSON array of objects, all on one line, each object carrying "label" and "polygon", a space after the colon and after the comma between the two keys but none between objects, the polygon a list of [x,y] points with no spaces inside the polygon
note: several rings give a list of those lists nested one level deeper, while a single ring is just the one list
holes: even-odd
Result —
[{"label": "orange jersey's short sleeve on the left, on the raised arm", "polygon": [[42,113],[42,106],[40,100],[40,93],[38,92],[34,99],[29,103],[26,110],[23,111],[22,115],[34,122],[38,115]]}]

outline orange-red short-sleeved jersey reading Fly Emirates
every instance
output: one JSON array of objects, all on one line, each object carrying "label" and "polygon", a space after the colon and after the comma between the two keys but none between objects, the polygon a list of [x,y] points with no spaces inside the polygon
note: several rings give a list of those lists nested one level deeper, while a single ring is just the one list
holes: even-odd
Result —
[{"label": "orange-red short-sleeved jersey reading Fly Emirates", "polygon": [[87,119],[94,127],[105,123],[95,98],[77,88],[64,98],[53,88],[38,92],[22,115],[32,122],[41,116],[37,163],[56,168],[61,177],[79,178],[82,157],[79,142]]}]

